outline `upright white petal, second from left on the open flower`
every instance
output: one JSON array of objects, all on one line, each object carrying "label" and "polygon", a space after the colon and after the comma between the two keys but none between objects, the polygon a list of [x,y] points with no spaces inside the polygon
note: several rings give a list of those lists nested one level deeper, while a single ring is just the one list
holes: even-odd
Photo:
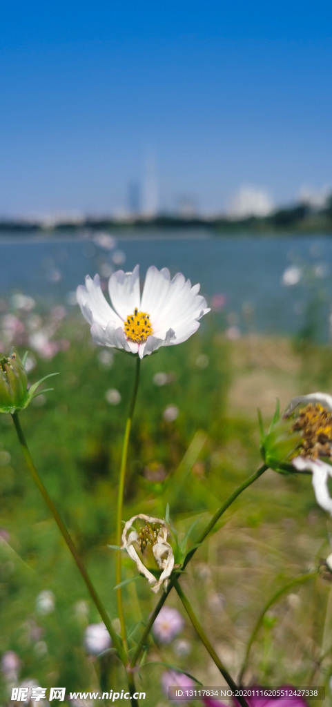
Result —
[{"label": "upright white petal, second from left on the open flower", "polygon": [[112,305],[121,320],[124,321],[129,314],[132,314],[135,307],[141,309],[138,265],[132,272],[123,270],[114,272],[109,278],[108,288]]}]

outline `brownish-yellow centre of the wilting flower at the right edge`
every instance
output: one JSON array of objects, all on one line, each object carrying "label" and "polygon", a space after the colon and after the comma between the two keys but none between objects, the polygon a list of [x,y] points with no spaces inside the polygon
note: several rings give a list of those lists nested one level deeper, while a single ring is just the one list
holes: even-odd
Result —
[{"label": "brownish-yellow centre of the wilting flower at the right edge", "polygon": [[292,426],[302,433],[302,457],[332,457],[332,413],[320,403],[306,405]]}]

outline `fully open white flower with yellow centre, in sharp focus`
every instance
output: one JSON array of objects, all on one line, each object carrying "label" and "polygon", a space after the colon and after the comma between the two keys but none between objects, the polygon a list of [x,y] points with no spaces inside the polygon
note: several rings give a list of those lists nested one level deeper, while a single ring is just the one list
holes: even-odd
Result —
[{"label": "fully open white flower with yellow centre, in sharp focus", "polygon": [[199,285],[191,287],[182,273],[171,280],[167,268],[149,267],[142,295],[138,265],[133,272],[114,272],[108,288],[112,307],[102,294],[99,275],[94,279],[87,276],[85,286],[77,289],[78,304],[91,325],[93,339],[140,358],[160,346],[182,344],[210,311],[206,300],[198,295]]}]

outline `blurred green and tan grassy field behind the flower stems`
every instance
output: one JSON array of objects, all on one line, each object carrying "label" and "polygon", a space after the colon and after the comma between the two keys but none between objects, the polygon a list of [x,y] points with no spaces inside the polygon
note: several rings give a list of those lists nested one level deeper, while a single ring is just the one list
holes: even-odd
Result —
[{"label": "blurred green and tan grassy field behind the flower stems", "polygon": [[[37,358],[30,373],[33,382],[59,371],[54,392],[37,398],[20,420],[40,476],[117,626],[114,551],[107,544],[115,542],[117,479],[135,361],[94,346],[81,320],[65,319],[61,335],[69,348],[52,361]],[[261,464],[257,408],[267,426],[276,397],[283,408],[293,395],[328,392],[331,378],[328,346],[254,335],[229,341],[208,326],[185,344],[144,358],[124,520],[136,513],[162,517],[169,503],[180,537],[194,520],[197,528],[203,526]],[[104,686],[124,688],[112,652],[102,661],[87,655],[85,628],[100,618],[25,468],[6,415],[0,417],[0,466],[1,655],[17,653],[20,681],[83,691],[98,689],[101,674]],[[269,470],[196,552],[182,586],[233,677],[264,604],[330,553],[330,523],[316,505],[309,476]],[[124,577],[135,573],[126,557]],[[326,573],[290,587],[271,606],[251,648],[246,684],[324,684],[328,690],[330,588]],[[54,595],[49,613],[37,600],[44,590]],[[129,632],[147,619],[155,601],[143,578],[124,587]],[[223,684],[174,591],[167,604],[183,614],[184,628],[169,645],[151,638],[148,660],[177,665],[206,685]],[[137,626],[134,638],[140,631]],[[146,707],[155,707],[156,695],[160,707],[168,703],[160,688],[164,670],[150,665],[137,676]],[[0,699],[9,703],[4,674]]]}]

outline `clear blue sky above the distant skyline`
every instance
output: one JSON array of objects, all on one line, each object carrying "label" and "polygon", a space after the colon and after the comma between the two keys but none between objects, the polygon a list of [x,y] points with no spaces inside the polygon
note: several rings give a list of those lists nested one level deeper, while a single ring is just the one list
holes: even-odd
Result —
[{"label": "clear blue sky above the distant skyline", "polygon": [[0,215],[109,212],[155,160],[160,204],[222,211],[332,185],[332,4],[1,4]]}]

